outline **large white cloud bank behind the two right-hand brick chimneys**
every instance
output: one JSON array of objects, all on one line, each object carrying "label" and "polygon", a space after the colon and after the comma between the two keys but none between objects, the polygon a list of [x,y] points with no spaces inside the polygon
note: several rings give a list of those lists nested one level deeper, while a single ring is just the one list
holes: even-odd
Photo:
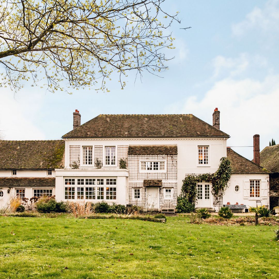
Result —
[{"label": "large white cloud bank behind the two right-hand brick chimneys", "polygon": [[[173,104],[173,112],[193,113],[212,123],[215,107],[220,110],[220,128],[230,134],[228,146],[251,146],[252,136],[260,134],[261,149],[271,138],[279,141],[279,75],[263,81],[225,78],[215,82],[203,98],[190,96],[183,105]],[[252,159],[252,148],[234,148]]]}]

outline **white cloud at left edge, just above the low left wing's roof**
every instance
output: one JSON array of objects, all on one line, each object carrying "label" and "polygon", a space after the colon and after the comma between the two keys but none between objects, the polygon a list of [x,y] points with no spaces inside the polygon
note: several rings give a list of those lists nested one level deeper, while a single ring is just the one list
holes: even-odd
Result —
[{"label": "white cloud at left edge, just above the low left wing's roof", "polygon": [[41,108],[42,95],[26,90],[14,95],[8,88],[0,93],[0,131],[4,140],[42,140],[45,138],[35,119]]}]

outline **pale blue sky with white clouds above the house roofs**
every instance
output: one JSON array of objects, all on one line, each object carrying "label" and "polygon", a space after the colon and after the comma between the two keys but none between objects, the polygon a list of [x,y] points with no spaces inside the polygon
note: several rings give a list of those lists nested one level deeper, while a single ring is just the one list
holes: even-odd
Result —
[{"label": "pale blue sky with white clouds above the house roofs", "polygon": [[[192,113],[212,123],[221,111],[228,146],[251,146],[260,134],[261,150],[279,143],[279,1],[170,1],[181,24],[170,28],[175,59],[161,76],[144,73],[127,86],[108,83],[109,93],[79,90],[68,95],[26,86],[0,90],[0,130],[4,139],[59,139],[72,129],[73,111],[84,123],[98,114]],[[181,30],[179,28],[189,27]],[[234,148],[252,159],[253,150]]]}]

